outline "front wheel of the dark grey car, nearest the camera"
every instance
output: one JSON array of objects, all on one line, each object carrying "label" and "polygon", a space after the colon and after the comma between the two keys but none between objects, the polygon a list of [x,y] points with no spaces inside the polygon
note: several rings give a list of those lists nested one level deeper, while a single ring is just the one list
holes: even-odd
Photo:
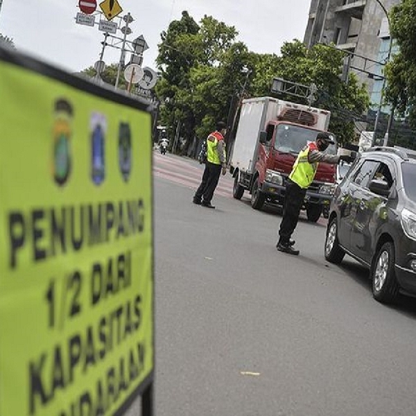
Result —
[{"label": "front wheel of the dark grey car, nearest the camera", "polygon": [[372,293],[375,300],[382,303],[394,302],[399,293],[395,274],[395,246],[388,241],[376,255],[372,267]]}]

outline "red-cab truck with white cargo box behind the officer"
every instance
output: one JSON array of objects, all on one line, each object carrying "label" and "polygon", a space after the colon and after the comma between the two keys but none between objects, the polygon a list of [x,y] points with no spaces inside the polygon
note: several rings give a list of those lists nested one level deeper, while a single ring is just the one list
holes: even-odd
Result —
[{"label": "red-cab truck with white cargo box behind the officer", "polygon": [[[264,202],[282,205],[297,154],[318,132],[328,130],[330,116],[327,110],[277,98],[244,100],[229,159],[234,198],[241,199],[248,190],[254,209],[261,209]],[[336,145],[326,152],[336,154]],[[335,166],[319,164],[304,202],[309,220],[317,221],[329,205],[335,176]]]}]

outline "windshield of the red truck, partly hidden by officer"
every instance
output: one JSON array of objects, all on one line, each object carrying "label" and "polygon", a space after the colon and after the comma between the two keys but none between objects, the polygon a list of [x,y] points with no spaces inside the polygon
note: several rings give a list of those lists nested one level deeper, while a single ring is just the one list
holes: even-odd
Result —
[{"label": "windshield of the red truck, partly hidden by officer", "polygon": [[[299,125],[277,125],[275,149],[283,153],[299,153],[306,144],[315,141],[318,131]],[[335,139],[335,137],[334,137]],[[336,144],[330,144],[324,153],[336,155]]]}]

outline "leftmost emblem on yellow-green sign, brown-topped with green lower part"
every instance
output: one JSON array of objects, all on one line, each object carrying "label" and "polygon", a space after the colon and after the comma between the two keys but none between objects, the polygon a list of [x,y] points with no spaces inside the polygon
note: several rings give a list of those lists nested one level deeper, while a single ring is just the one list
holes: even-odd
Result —
[{"label": "leftmost emblem on yellow-green sign, brown-topped with green lower part", "polygon": [[53,178],[58,185],[67,182],[71,173],[71,147],[73,109],[71,103],[60,98],[55,101],[53,123]]}]

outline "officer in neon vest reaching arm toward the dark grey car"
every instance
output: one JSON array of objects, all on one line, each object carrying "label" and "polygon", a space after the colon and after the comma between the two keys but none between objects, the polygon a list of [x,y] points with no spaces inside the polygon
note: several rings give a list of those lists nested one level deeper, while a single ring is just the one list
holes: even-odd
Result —
[{"label": "officer in neon vest reaching arm toward the dark grey car", "polygon": [[352,155],[327,155],[323,153],[329,144],[333,143],[334,141],[328,133],[319,132],[315,141],[307,144],[297,155],[291,174],[286,182],[283,217],[280,223],[277,250],[288,254],[299,254],[299,250],[293,248],[295,241],[291,240],[291,236],[297,225],[306,189],[315,177],[318,163],[338,164],[340,160],[351,163],[355,159],[355,152],[352,152]]}]

